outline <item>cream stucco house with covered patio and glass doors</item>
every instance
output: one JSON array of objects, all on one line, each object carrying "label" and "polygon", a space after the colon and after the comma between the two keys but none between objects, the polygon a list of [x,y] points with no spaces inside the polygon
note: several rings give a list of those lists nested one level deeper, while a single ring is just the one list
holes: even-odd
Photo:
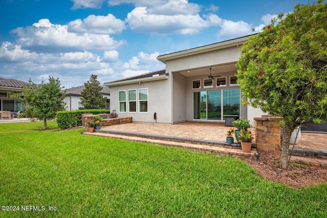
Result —
[{"label": "cream stucco house with covered patio and glass doors", "polygon": [[111,110],[133,122],[225,122],[224,115],[237,115],[254,126],[253,117],[265,113],[241,104],[235,66],[248,37],[159,55],[165,70],[106,82]]}]

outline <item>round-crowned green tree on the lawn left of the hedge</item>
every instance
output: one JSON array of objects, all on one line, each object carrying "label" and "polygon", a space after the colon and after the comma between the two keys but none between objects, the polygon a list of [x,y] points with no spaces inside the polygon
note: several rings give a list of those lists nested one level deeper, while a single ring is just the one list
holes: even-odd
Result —
[{"label": "round-crowned green tree on the lawn left of the hedge", "polygon": [[24,87],[23,100],[27,103],[25,111],[32,118],[43,120],[43,129],[46,129],[46,120],[54,119],[57,111],[65,109],[65,91],[61,87],[59,78],[49,77],[49,83],[35,84]]}]

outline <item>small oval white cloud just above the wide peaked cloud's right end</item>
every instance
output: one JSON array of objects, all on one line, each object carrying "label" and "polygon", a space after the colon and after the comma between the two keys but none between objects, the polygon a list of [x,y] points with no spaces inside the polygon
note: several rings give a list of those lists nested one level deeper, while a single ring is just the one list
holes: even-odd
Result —
[{"label": "small oval white cloud just above the wide peaked cloud's right end", "polygon": [[68,31],[75,33],[120,34],[125,22],[112,14],[107,16],[89,15],[85,19],[76,19],[68,23]]}]

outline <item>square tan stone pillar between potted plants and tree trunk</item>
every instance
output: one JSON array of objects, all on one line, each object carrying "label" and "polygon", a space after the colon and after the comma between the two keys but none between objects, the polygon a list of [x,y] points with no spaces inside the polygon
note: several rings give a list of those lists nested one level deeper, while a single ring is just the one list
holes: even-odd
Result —
[{"label": "square tan stone pillar between potted plants and tree trunk", "polygon": [[281,155],[281,132],[279,122],[282,117],[262,115],[254,117],[256,151]]}]

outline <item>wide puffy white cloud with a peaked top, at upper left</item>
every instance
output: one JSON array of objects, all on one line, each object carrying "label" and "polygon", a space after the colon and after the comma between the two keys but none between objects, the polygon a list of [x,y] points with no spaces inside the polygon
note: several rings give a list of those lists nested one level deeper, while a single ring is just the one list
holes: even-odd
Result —
[{"label": "wide puffy white cloud with a peaked top, at upper left", "polygon": [[41,19],[32,27],[17,28],[16,41],[23,48],[47,52],[113,50],[125,44],[105,34],[77,34],[68,31],[67,25],[54,25],[49,19]]}]

